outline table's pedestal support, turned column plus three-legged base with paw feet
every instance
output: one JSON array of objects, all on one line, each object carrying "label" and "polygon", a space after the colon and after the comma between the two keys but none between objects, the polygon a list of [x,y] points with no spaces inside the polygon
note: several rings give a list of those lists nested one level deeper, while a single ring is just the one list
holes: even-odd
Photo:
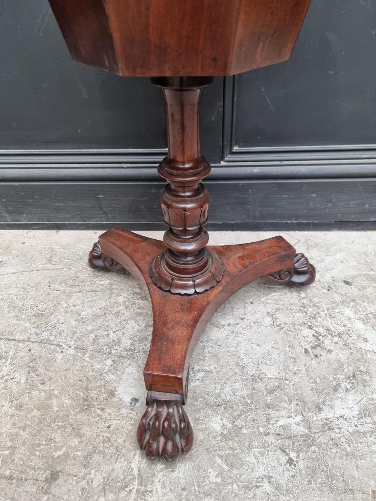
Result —
[{"label": "table's pedestal support, turned column plus three-legged base with paw feet", "polygon": [[308,285],[315,269],[282,236],[241,245],[207,245],[210,165],[200,153],[199,111],[210,77],[153,78],[166,102],[168,155],[158,166],[168,184],[161,194],[163,241],[115,226],[89,255],[93,268],[126,268],[147,289],[153,333],[144,379],[147,409],[137,439],[150,459],[190,450],[193,431],[182,405],[192,352],[214,312],[260,277]]}]

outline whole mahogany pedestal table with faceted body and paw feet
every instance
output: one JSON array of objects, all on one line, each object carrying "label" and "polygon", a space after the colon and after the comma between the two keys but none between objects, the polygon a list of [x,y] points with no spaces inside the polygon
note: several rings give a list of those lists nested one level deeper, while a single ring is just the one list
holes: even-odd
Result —
[{"label": "whole mahogany pedestal table with faceted body and paw feet", "polygon": [[115,226],[89,254],[92,268],[126,268],[148,291],[153,331],[144,369],[146,411],[137,429],[150,459],[193,444],[182,408],[192,352],[227,298],[253,280],[305,286],[315,269],[282,236],[208,246],[210,165],[200,154],[203,89],[290,57],[310,0],[50,0],[74,60],[117,75],[150,76],[166,102],[168,154],[158,172],[163,241]]}]

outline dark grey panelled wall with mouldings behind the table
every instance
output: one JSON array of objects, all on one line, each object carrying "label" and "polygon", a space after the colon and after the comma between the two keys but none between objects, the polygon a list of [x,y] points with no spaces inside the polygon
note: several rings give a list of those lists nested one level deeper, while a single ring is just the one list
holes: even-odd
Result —
[{"label": "dark grey panelled wall with mouldings behind the table", "polygon": [[[0,2],[0,47],[0,224],[159,227],[159,89],[71,61],[47,0]],[[288,62],[215,79],[213,227],[376,226],[375,60],[373,0],[312,0]]]}]

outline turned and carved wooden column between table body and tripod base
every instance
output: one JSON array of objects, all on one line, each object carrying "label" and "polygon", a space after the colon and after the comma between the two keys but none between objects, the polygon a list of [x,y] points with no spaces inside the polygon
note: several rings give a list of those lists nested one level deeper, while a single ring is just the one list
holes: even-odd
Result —
[{"label": "turned and carved wooden column between table body and tripod base", "polygon": [[[221,279],[218,270],[213,271],[219,265],[206,247],[209,234],[204,226],[210,197],[201,183],[210,165],[200,153],[200,101],[212,78],[160,77],[151,81],[163,91],[168,139],[168,154],[158,166],[168,182],[161,194],[163,220],[168,225],[163,237],[167,249],[153,263],[151,275],[158,287],[171,292],[203,292]],[[176,280],[180,280],[178,287]],[[170,287],[174,281],[175,286]],[[195,289],[196,282],[201,285]]]}]

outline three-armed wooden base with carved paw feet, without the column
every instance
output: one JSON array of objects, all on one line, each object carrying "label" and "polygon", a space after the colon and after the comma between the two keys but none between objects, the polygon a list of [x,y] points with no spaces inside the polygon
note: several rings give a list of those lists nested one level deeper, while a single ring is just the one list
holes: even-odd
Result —
[{"label": "three-armed wooden base with carved paw feet, without the column", "polygon": [[144,369],[147,409],[137,429],[149,459],[172,460],[189,451],[193,430],[184,412],[190,359],[215,311],[235,292],[266,277],[277,284],[309,285],[315,269],[282,236],[239,245],[209,246],[223,265],[222,280],[203,293],[172,294],[155,285],[150,264],[161,255],[163,241],[115,226],[99,237],[89,254],[92,268],[126,268],[148,291],[153,332]]}]

